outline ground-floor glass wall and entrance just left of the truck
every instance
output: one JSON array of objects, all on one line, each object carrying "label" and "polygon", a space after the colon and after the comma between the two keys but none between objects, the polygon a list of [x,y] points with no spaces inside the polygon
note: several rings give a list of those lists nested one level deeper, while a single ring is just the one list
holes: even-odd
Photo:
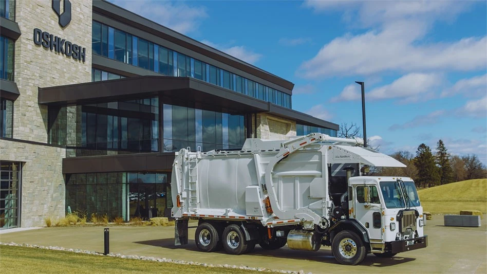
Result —
[{"label": "ground-floor glass wall and entrance just left of the truck", "polygon": [[156,172],[80,173],[66,176],[66,210],[112,221],[170,216],[173,207],[168,174]]}]

